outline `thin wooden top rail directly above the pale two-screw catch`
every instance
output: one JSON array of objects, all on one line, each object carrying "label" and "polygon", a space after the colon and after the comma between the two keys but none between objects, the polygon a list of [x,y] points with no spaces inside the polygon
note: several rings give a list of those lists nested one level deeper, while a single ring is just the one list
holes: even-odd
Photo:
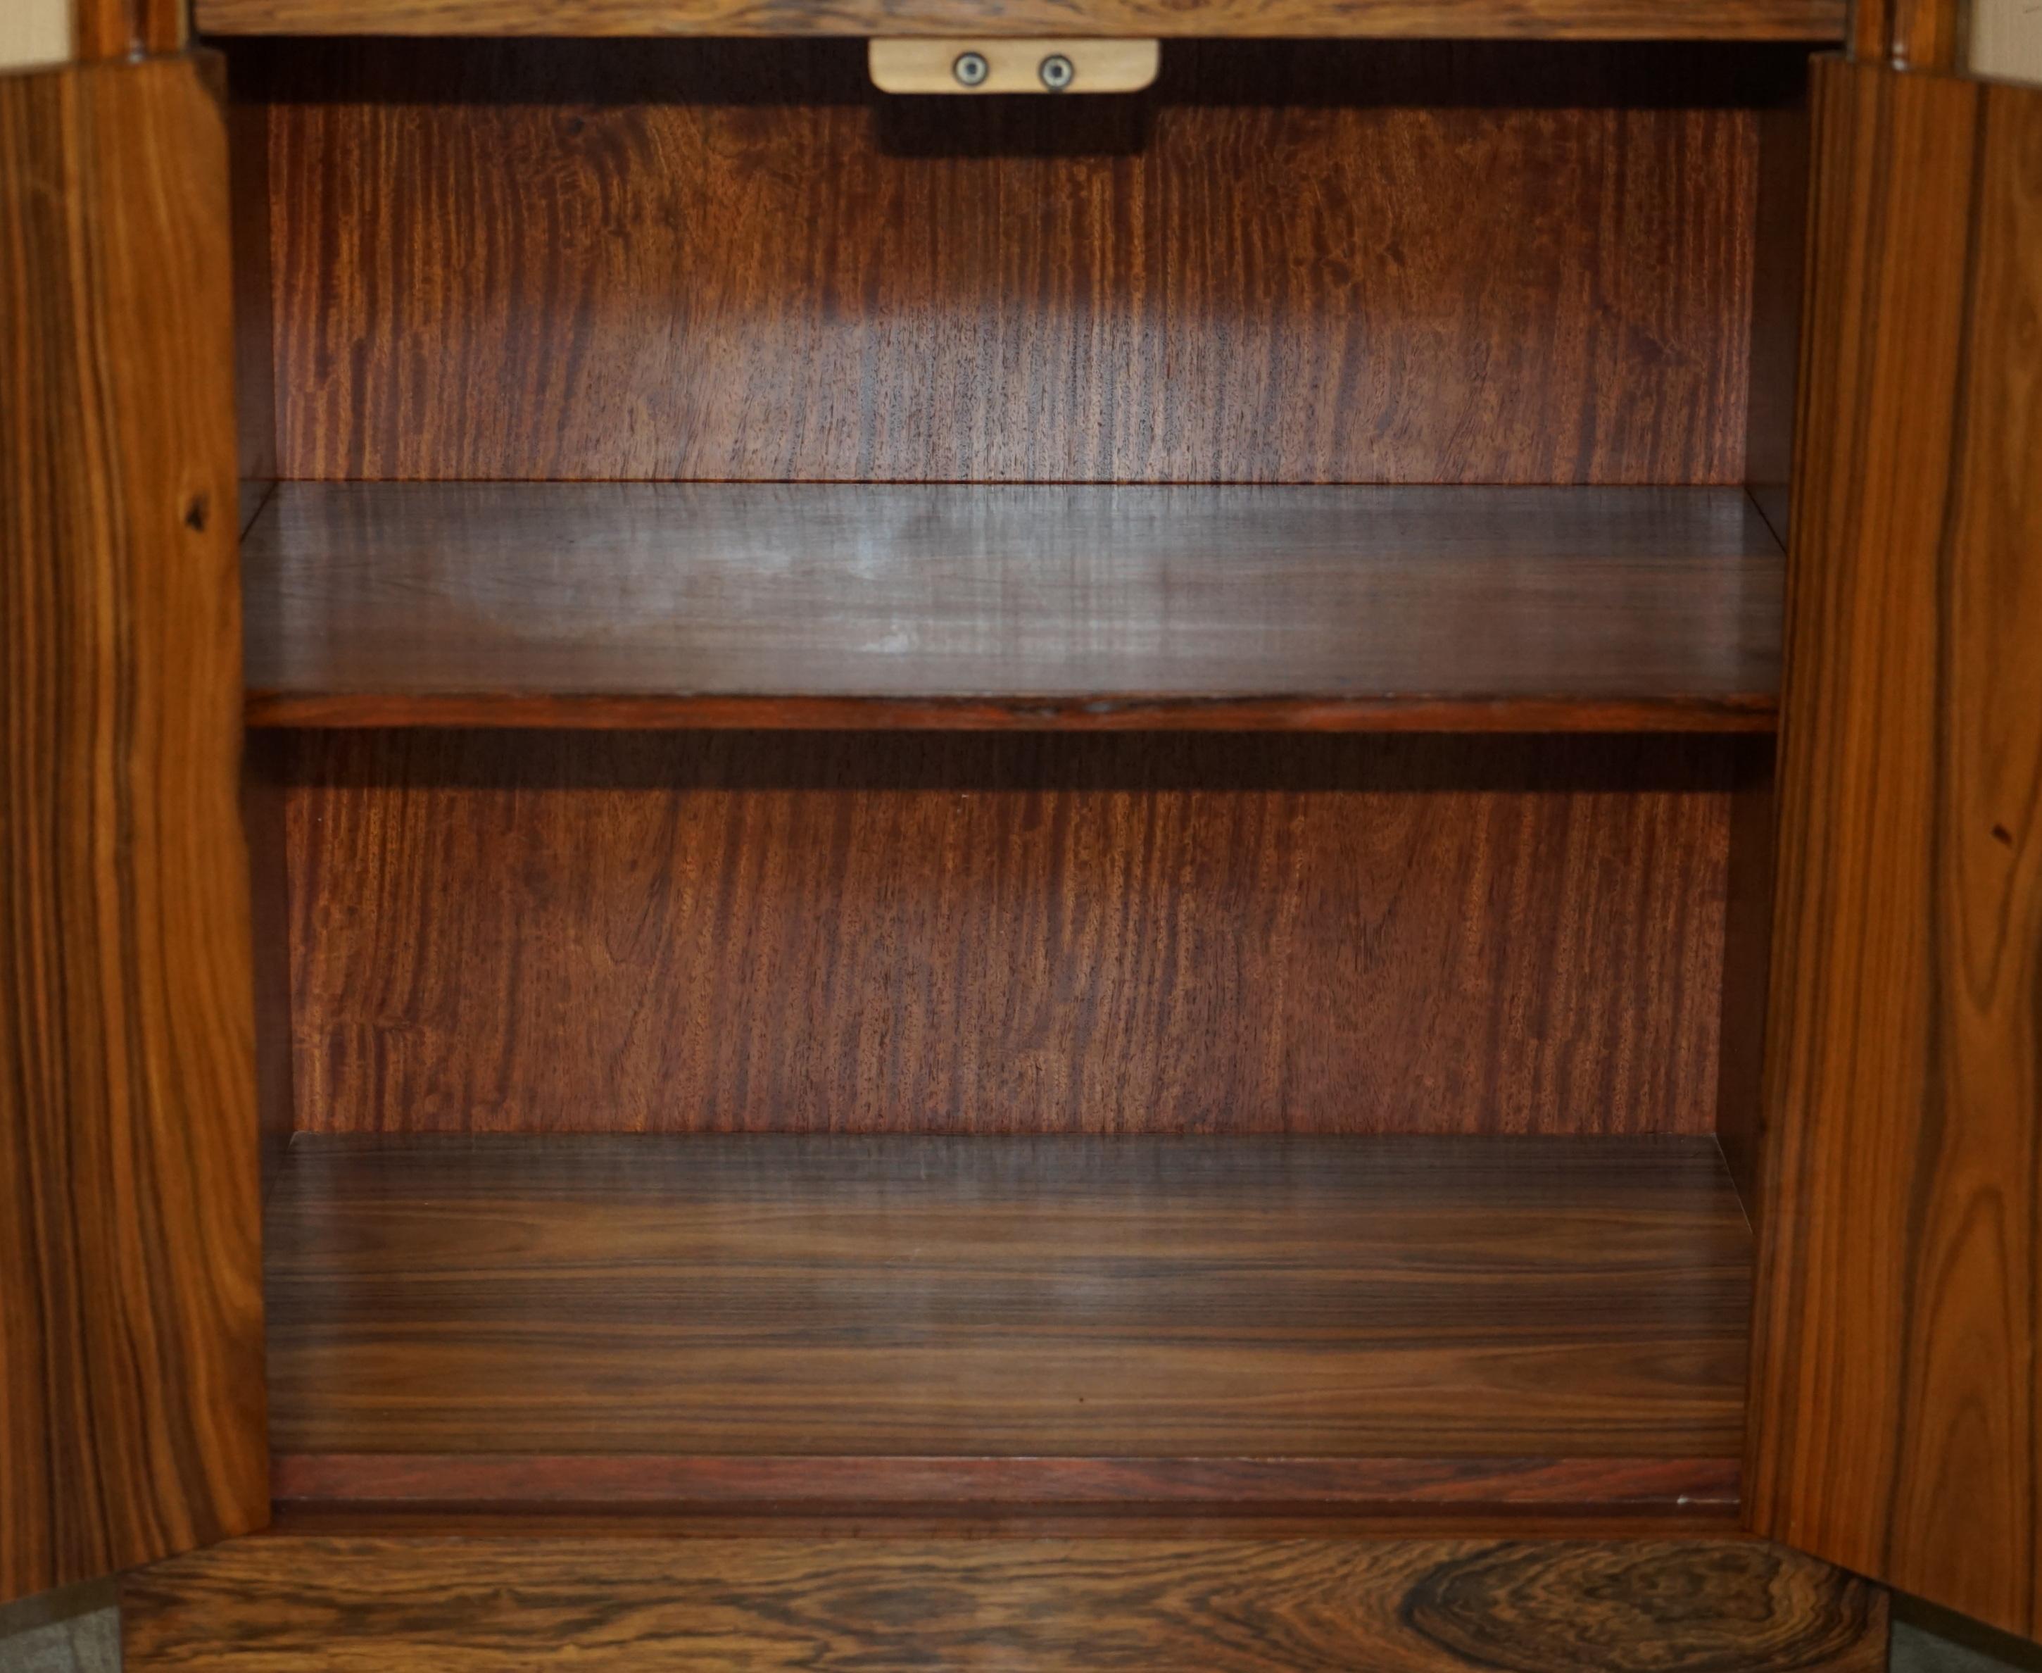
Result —
[{"label": "thin wooden top rail directly above the pale two-screw catch", "polygon": [[1832,41],[1844,0],[198,0],[208,35],[1211,35]]}]

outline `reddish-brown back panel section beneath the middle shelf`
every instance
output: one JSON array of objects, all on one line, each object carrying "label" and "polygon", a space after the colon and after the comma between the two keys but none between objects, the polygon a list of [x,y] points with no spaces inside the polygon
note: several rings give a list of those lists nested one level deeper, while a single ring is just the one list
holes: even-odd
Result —
[{"label": "reddish-brown back panel section beneath the middle shelf", "polygon": [[306,1130],[1715,1124],[1721,739],[294,744]]}]

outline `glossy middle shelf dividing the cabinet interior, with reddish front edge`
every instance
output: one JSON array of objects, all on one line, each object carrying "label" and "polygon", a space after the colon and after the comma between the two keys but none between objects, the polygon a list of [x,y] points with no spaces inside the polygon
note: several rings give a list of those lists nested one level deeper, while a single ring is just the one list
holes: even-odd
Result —
[{"label": "glossy middle shelf dividing the cabinet interior, with reddish front edge", "polygon": [[251,725],[1752,731],[1734,488],[282,484]]}]

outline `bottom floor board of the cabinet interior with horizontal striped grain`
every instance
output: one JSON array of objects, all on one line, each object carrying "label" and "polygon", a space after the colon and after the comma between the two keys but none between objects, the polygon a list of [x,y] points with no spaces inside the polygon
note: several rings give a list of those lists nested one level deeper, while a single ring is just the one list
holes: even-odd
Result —
[{"label": "bottom floor board of the cabinet interior with horizontal striped grain", "polygon": [[300,1503],[1730,1514],[1713,1140],[300,1136]]}]

